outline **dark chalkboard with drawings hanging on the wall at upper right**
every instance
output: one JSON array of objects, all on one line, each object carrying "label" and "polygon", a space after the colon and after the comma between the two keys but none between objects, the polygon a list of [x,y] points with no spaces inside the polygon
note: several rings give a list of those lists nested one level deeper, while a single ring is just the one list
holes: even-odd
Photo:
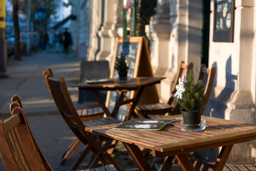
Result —
[{"label": "dark chalkboard with drawings hanging on the wall at upper right", "polygon": [[234,0],[215,0],[213,41],[234,41]]}]

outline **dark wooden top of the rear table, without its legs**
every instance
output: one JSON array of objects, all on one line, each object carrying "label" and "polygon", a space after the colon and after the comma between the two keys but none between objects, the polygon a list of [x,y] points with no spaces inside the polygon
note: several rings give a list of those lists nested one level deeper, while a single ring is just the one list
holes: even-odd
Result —
[{"label": "dark wooden top of the rear table, without its legs", "polygon": [[73,87],[78,87],[79,90],[137,90],[141,86],[160,83],[163,79],[165,77],[138,77],[130,78],[129,81],[118,81],[118,78],[113,78],[113,82],[79,83],[73,85]]}]

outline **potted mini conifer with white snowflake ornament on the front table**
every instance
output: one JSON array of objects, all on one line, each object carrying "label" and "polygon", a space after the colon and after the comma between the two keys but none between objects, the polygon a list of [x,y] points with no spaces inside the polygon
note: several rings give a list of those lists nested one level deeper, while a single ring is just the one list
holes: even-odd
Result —
[{"label": "potted mini conifer with white snowflake ornament on the front table", "polygon": [[175,88],[177,90],[175,97],[182,108],[183,124],[190,128],[199,128],[207,96],[203,81],[195,83],[194,72],[190,69],[188,77],[179,78],[179,84]]}]

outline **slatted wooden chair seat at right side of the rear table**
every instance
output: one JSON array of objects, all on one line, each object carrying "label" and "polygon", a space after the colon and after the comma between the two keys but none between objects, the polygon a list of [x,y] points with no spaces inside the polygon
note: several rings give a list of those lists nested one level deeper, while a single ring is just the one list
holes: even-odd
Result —
[{"label": "slatted wooden chair seat at right side of the rear table", "polygon": [[137,105],[136,109],[142,114],[158,114],[164,115],[173,110],[173,107],[166,103],[153,103],[145,105]]}]

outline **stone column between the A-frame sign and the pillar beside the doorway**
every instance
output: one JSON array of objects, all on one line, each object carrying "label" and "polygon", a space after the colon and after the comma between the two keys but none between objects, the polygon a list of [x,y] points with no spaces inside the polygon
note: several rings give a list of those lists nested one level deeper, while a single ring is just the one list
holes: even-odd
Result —
[{"label": "stone column between the A-frame sign and the pillar beside the doorway", "polygon": [[[167,76],[168,52],[170,41],[170,0],[157,1],[156,14],[151,17],[150,24],[145,26],[145,33],[150,40],[150,60],[155,76]],[[168,100],[170,95],[170,82],[172,78],[165,79],[158,86],[160,98]]]}]

